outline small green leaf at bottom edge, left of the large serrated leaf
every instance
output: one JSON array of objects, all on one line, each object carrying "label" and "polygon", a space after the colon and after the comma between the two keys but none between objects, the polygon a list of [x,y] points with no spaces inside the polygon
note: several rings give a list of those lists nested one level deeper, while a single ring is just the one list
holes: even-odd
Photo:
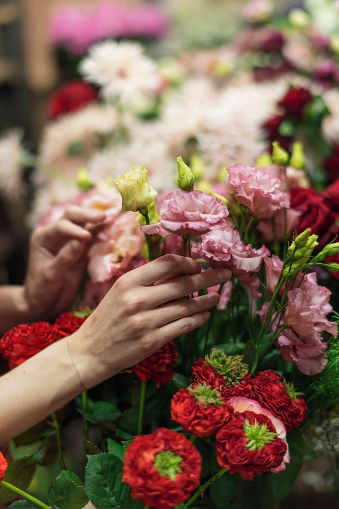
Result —
[{"label": "small green leaf at bottom edge, left of the large serrated leaf", "polygon": [[48,500],[53,509],[82,509],[88,503],[81,480],[68,470],[63,470],[51,483]]}]

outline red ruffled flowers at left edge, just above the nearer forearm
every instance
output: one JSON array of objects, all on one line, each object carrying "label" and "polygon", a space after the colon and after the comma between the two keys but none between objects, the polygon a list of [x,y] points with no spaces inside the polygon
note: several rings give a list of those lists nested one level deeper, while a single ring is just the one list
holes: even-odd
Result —
[{"label": "red ruffled flowers at left edge, just above the nearer forearm", "polygon": [[76,315],[68,312],[57,318],[54,324],[36,322],[18,325],[1,338],[0,354],[8,360],[9,367],[12,369],[61,337],[73,334],[86,318],[77,318]]}]

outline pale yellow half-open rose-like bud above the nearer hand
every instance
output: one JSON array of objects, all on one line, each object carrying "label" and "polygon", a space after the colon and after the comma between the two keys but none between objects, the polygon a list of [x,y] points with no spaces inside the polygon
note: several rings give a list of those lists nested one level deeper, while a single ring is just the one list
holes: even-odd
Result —
[{"label": "pale yellow half-open rose-like bud above the nearer hand", "polygon": [[147,169],[144,166],[132,168],[131,171],[114,179],[114,184],[121,194],[123,211],[144,211],[156,200],[157,191],[150,187]]}]

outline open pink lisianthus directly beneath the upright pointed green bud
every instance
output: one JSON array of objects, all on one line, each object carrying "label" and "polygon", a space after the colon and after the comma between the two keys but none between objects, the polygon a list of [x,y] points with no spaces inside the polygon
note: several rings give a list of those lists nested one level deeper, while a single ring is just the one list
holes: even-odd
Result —
[{"label": "open pink lisianthus directly beneath the upright pointed green bud", "polygon": [[202,191],[172,191],[160,210],[160,224],[176,235],[201,235],[228,216],[220,200]]}]

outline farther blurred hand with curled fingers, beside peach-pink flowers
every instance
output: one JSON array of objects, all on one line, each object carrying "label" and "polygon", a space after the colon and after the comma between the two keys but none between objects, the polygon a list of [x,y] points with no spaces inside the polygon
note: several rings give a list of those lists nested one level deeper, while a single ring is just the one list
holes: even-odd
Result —
[{"label": "farther blurred hand with curled fingers, beside peach-pink flowers", "polygon": [[54,224],[35,230],[23,291],[31,322],[53,319],[71,308],[85,270],[92,233],[105,220],[104,212],[74,206]]}]

